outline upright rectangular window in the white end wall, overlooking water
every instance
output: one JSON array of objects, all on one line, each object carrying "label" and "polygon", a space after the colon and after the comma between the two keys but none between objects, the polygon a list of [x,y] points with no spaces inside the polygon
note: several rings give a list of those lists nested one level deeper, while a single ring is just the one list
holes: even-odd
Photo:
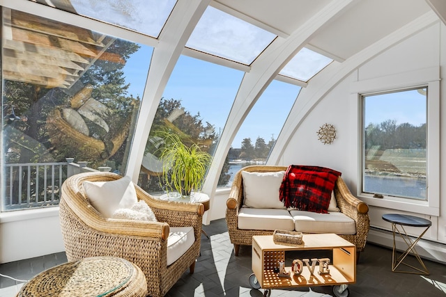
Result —
[{"label": "upright rectangular window in the white end wall, overlooking water", "polygon": [[362,96],[362,192],[427,200],[427,88]]}]

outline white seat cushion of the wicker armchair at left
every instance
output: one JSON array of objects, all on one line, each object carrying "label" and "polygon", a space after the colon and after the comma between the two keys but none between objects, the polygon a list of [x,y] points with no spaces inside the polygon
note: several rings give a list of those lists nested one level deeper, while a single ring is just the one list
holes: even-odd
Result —
[{"label": "white seat cushion of the wicker armchair at left", "polygon": [[169,266],[183,256],[194,242],[195,235],[192,226],[170,227],[169,237],[167,238],[167,265]]}]

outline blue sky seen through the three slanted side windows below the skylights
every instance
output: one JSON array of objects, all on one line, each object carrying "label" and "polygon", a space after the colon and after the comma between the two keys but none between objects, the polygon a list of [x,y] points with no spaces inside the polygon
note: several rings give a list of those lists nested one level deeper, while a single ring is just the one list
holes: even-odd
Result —
[{"label": "blue sky seen through the three slanted side windows below the skylights", "polygon": [[[134,97],[142,97],[144,92],[151,54],[150,47],[142,46],[125,65],[126,81],[130,83],[128,91]],[[243,74],[229,67],[180,56],[163,97],[181,100],[187,111],[192,115],[200,113],[203,122],[210,122],[218,133],[226,124]],[[289,83],[273,81],[240,127],[233,147],[240,147],[243,138],[251,138],[253,145],[259,136],[266,143],[272,136],[277,138],[299,90]]]}]

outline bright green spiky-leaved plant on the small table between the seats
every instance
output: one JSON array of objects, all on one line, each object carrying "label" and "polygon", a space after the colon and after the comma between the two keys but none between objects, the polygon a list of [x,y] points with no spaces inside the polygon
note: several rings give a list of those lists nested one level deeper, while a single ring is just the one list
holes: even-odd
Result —
[{"label": "bright green spiky-leaved plant on the small table between the seats", "polygon": [[161,149],[162,182],[183,196],[199,191],[212,160],[197,144],[185,145],[177,134],[165,134]]}]

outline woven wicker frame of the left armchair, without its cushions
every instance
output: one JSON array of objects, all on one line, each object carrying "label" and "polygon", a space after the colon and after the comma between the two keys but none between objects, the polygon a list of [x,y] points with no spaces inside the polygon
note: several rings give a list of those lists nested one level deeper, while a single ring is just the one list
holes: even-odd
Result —
[{"label": "woven wicker frame of the left armchair, without its cushions", "polygon": [[[144,200],[158,222],[107,220],[96,211],[84,193],[82,183],[121,178],[109,172],[73,175],[62,186],[60,218],[68,261],[84,257],[114,256],[136,264],[146,275],[148,295],[164,296],[183,273],[194,272],[199,256],[203,204],[155,200],[135,185],[138,200]],[[195,242],[176,262],[167,266],[169,226],[194,227]]]}]

